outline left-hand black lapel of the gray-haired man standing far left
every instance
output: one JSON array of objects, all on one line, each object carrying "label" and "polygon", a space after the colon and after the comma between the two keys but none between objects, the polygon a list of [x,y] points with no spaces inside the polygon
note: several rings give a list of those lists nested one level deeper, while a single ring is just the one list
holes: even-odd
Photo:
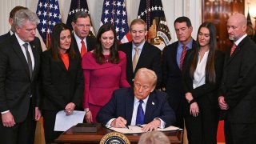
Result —
[{"label": "left-hand black lapel of the gray-haired man standing far left", "polygon": [[25,55],[22,52],[22,47],[19,45],[18,40],[17,40],[15,34],[12,35],[12,39],[13,40],[11,42],[14,42],[14,44],[13,44],[14,52],[18,55],[18,58],[21,60],[23,66],[25,67],[27,76],[30,78],[29,66],[27,64]]}]

